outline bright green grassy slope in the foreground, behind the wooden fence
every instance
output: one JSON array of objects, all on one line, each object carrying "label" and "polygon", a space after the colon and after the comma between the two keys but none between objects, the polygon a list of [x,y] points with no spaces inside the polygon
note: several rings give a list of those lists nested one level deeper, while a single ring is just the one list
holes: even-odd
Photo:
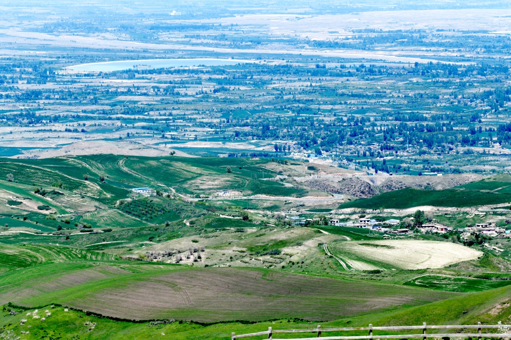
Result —
[{"label": "bright green grassy slope in the foreground, behind the wooden fence", "polygon": [[[335,321],[321,322],[322,328],[327,327],[361,327],[373,324],[374,326],[398,326],[427,324],[476,324],[478,321],[484,324],[497,324],[498,321],[507,318],[511,312],[511,306],[504,306],[497,312],[489,313],[499,301],[507,301],[511,294],[510,287],[455,296],[442,301],[436,301],[421,306],[403,307],[393,310],[383,310],[363,313],[357,317],[342,317]],[[35,307],[35,306],[34,306]],[[88,339],[160,339],[167,336],[177,340],[200,338],[207,340],[220,340],[230,337],[231,332],[243,334],[273,329],[296,329],[313,328],[311,323],[293,320],[286,317],[281,320],[260,322],[255,324],[221,323],[213,325],[200,325],[193,322],[178,322],[151,324],[150,322],[132,323],[126,321],[114,321],[107,318],[97,317],[90,312],[69,309],[59,305],[41,305],[36,308],[16,308],[5,305],[0,318],[0,327],[4,331],[11,331],[21,335],[21,331],[30,331],[25,334],[27,339],[39,339],[43,337],[60,336],[61,338],[88,338]],[[9,315],[8,311],[15,310],[17,315]],[[47,316],[48,312],[50,316]],[[30,315],[28,315],[30,313]],[[45,317],[42,321],[41,317]],[[25,322],[21,322],[26,320]],[[316,324],[313,324],[314,327]],[[31,327],[28,327],[31,326]],[[93,327],[94,326],[94,327]],[[376,332],[375,332],[376,333]],[[59,335],[60,334],[60,335]],[[325,336],[341,335],[335,332],[324,333]],[[353,332],[351,335],[364,335],[365,332]],[[381,333],[378,333],[381,334]],[[296,336],[295,334],[293,334]],[[302,334],[298,337],[305,337]],[[309,335],[310,336],[310,335]],[[259,339],[262,337],[256,337]]]}]

